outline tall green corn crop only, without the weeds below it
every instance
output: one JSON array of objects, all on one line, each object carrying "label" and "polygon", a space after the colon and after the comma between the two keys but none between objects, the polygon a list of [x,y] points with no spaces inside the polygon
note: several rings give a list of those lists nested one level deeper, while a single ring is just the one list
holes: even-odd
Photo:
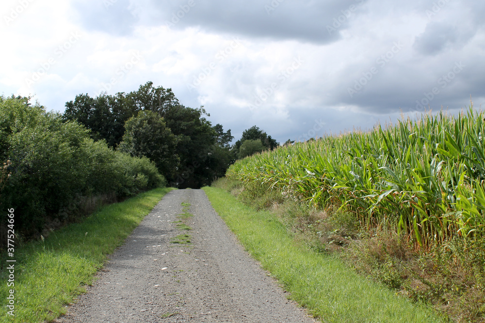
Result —
[{"label": "tall green corn crop only, without the weeds below it", "polygon": [[427,247],[484,229],[485,115],[472,107],[295,143],[239,160],[227,177],[257,181],[315,208],[339,207],[361,226]]}]

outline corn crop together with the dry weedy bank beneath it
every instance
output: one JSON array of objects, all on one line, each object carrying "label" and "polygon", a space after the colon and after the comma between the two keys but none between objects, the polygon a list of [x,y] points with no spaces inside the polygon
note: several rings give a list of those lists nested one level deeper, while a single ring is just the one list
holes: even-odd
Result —
[{"label": "corn crop together with the dry weedy bank beneath it", "polygon": [[252,205],[284,196],[272,208],[312,249],[339,251],[452,320],[484,322],[484,117],[470,108],[288,145],[236,162],[227,178]]}]

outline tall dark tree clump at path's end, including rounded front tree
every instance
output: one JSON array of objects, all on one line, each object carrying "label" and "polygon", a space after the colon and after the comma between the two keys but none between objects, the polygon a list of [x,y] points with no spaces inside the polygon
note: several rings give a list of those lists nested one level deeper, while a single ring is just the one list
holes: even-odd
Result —
[{"label": "tall dark tree clump at path's end, including rounded front tree", "polygon": [[[136,119],[142,111],[143,117]],[[205,115],[209,116],[203,107],[181,105],[171,89],[146,82],[129,93],[96,98],[80,94],[66,103],[63,118],[84,124],[91,130],[91,138],[105,139],[110,147],[118,147],[124,140],[118,147],[121,151],[153,160],[170,185],[198,188],[223,176],[235,159],[229,149],[231,131],[224,132],[220,124],[212,126]],[[130,118],[135,121],[128,122]],[[150,141],[150,137],[158,141]]]}]

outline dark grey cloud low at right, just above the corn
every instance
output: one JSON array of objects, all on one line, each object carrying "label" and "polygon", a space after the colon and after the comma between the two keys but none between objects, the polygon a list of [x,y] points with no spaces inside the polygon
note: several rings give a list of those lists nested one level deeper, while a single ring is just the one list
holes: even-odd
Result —
[{"label": "dark grey cloud low at right, just above the corn", "polygon": [[[431,65],[431,66],[430,66]],[[413,62],[388,66],[372,79],[355,87],[356,79],[340,78],[328,100],[328,106],[355,106],[372,114],[387,114],[422,111],[428,105],[434,110],[457,109],[467,106],[470,94],[481,103],[484,97],[484,63],[480,58],[441,59],[441,62],[424,60],[413,66]],[[349,88],[355,89],[352,96]]]}]

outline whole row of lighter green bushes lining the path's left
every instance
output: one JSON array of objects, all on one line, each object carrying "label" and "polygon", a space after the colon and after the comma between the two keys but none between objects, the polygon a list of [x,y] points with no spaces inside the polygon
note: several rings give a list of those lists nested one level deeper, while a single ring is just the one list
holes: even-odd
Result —
[{"label": "whole row of lighter green bushes lining the path's left", "polygon": [[116,153],[28,99],[0,98],[0,156],[11,173],[0,204],[16,210],[16,232],[32,236],[49,221],[70,220],[83,196],[124,197],[162,185],[148,159]]}]

